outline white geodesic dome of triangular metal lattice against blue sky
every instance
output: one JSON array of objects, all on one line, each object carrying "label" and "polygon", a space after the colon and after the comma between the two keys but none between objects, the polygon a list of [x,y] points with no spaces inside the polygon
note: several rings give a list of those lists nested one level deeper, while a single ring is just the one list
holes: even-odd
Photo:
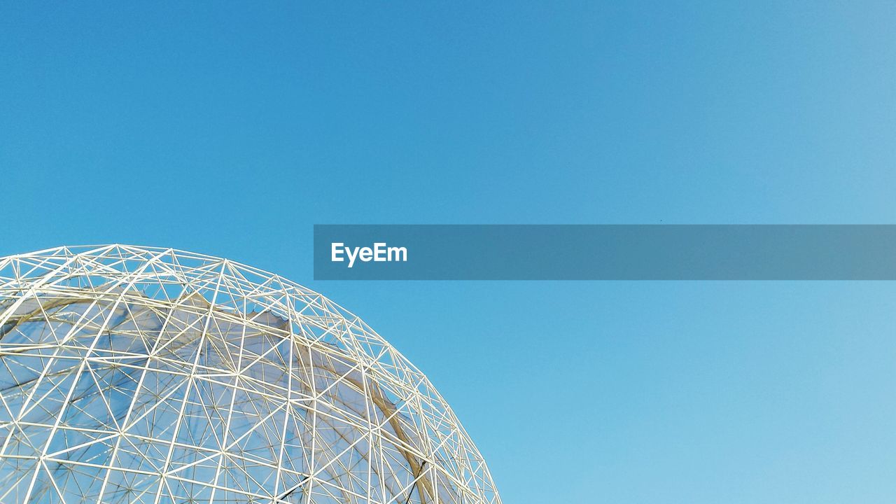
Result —
[{"label": "white geodesic dome of triangular metal lattice against blue sky", "polygon": [[500,498],[358,317],[227,259],[111,245],[0,258],[0,502]]}]

